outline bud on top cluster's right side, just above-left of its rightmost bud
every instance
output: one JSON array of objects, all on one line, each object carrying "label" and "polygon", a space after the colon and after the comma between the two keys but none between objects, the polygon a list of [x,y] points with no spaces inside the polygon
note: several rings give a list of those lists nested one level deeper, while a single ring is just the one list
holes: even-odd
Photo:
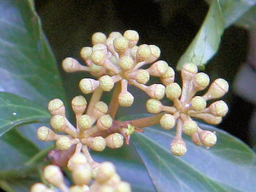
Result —
[{"label": "bud on top cluster's right side, just above-left of its rightmost bud", "polygon": [[147,71],[152,76],[161,77],[163,76],[168,69],[168,63],[162,60],[154,62]]}]

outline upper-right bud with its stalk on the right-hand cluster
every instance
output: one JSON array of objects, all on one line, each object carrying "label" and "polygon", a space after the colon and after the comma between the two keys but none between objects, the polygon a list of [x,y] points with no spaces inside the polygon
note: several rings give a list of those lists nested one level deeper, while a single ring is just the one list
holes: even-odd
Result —
[{"label": "upper-right bud with its stalk on the right-hand cluster", "polygon": [[203,95],[206,100],[218,99],[228,92],[229,85],[225,79],[218,78],[210,85],[208,91]]}]

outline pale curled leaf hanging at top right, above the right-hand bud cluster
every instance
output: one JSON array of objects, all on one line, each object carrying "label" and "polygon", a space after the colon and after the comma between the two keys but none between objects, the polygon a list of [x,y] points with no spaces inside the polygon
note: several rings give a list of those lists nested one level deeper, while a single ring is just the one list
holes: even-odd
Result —
[{"label": "pale curled leaf hanging at top right, above the right-hand bud cluster", "polygon": [[178,61],[177,69],[181,70],[186,62],[204,69],[206,62],[218,51],[224,29],[255,4],[255,0],[213,0],[201,28]]}]

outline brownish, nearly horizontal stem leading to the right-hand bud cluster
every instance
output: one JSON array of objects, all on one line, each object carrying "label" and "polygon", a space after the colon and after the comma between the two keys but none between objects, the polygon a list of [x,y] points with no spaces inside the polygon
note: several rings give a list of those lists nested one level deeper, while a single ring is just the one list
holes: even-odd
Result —
[{"label": "brownish, nearly horizontal stem leading to the right-hand bud cluster", "polygon": [[132,124],[133,126],[137,128],[143,128],[151,125],[155,125],[159,123],[159,120],[161,117],[164,115],[164,113],[160,113],[157,115],[153,115],[150,117],[145,117],[145,118],[139,118],[139,119],[133,119],[131,121],[128,121],[127,123]]}]

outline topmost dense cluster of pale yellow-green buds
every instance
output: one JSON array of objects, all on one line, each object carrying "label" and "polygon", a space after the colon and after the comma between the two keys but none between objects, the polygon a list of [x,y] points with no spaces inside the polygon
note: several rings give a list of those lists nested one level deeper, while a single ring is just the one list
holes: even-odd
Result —
[{"label": "topmost dense cluster of pale yellow-green buds", "polygon": [[[150,98],[162,99],[165,86],[174,79],[174,70],[165,61],[156,61],[161,50],[156,45],[142,44],[137,46],[139,34],[135,30],[126,30],[123,35],[112,32],[106,37],[97,32],[92,35],[92,47],[83,47],[81,57],[87,66],[81,65],[74,58],[62,61],[62,67],[67,72],[89,71],[97,77],[83,78],[79,82],[81,91],[85,94],[94,92],[98,87],[103,91],[113,89],[115,83],[121,82],[118,93],[120,106],[129,107],[134,101],[133,95],[127,90],[128,85],[134,85],[146,92]],[[152,63],[149,68],[142,66]],[[150,76],[161,78],[162,84],[147,86]]]}]

